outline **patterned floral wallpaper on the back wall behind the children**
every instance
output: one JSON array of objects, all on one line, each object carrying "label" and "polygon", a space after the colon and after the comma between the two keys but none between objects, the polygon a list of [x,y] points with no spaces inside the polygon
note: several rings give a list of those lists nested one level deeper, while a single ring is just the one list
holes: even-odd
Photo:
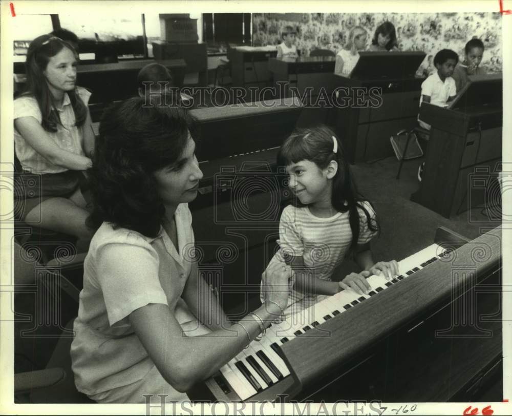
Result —
[{"label": "patterned floral wallpaper on the back wall behind the children", "polygon": [[426,53],[418,73],[431,73],[433,56],[444,48],[464,59],[464,45],[474,36],[485,46],[481,66],[488,73],[502,71],[500,13],[255,13],[252,38],[254,46],[278,45],[284,27],[292,26],[302,55],[317,48],[337,53],[352,27],[366,28],[370,44],[376,27],[386,20],[395,25],[400,50]]}]

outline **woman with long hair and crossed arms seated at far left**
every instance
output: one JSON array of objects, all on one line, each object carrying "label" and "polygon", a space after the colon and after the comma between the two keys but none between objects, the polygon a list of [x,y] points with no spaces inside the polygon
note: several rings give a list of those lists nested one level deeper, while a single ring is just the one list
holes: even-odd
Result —
[{"label": "woman with long hair and crossed arms seated at far left", "polygon": [[76,86],[76,65],[73,46],[58,37],[42,35],[29,46],[27,89],[14,100],[14,145],[23,171],[14,194],[21,220],[75,236],[80,250],[93,235],[80,184],[92,166],[95,137],[91,93]]}]

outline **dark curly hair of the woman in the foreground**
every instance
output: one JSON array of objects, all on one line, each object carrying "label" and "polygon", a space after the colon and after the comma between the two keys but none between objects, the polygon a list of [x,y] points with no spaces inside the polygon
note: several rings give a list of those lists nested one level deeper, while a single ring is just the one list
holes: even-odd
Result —
[{"label": "dark curly hair of the woman in the foreground", "polygon": [[195,131],[185,109],[144,106],[139,97],[106,109],[89,171],[94,210],[88,224],[107,221],[156,237],[165,209],[154,172],[175,163]]}]

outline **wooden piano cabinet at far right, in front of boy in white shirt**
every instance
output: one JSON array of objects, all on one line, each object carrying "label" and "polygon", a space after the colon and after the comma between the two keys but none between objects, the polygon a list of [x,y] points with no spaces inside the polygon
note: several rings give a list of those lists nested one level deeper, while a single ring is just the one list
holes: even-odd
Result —
[{"label": "wooden piano cabinet at far right, in front of boy in white shirt", "polygon": [[496,197],[486,190],[501,170],[502,107],[449,110],[424,103],[420,118],[432,130],[420,188],[411,200],[449,218]]}]

